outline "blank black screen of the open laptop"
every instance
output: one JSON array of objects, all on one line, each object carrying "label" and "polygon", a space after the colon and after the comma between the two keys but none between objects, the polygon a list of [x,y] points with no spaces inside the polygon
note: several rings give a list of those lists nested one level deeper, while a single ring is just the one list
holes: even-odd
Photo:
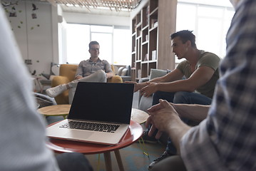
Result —
[{"label": "blank black screen of the open laptop", "polygon": [[78,83],[68,119],[130,123],[133,84]]}]

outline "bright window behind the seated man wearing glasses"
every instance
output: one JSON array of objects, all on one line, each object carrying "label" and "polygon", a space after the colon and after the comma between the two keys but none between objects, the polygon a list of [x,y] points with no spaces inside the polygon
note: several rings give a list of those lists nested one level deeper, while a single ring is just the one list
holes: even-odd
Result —
[{"label": "bright window behind the seated man wearing glasses", "polygon": [[117,26],[67,24],[67,62],[80,63],[90,58],[88,44],[98,41],[99,58],[115,65],[130,65],[130,29]]}]

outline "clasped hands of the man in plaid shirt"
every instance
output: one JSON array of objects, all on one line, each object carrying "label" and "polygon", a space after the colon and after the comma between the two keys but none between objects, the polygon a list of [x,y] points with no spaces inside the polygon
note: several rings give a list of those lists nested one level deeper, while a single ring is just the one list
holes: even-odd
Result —
[{"label": "clasped hands of the man in plaid shirt", "polygon": [[159,100],[158,105],[153,105],[148,109],[148,114],[150,117],[148,118],[145,126],[148,127],[149,124],[152,124],[148,135],[153,135],[155,129],[158,129],[157,135],[155,135],[156,139],[160,138],[162,132],[167,131],[170,128],[169,124],[173,118],[178,118],[178,114],[170,103],[166,100]]}]

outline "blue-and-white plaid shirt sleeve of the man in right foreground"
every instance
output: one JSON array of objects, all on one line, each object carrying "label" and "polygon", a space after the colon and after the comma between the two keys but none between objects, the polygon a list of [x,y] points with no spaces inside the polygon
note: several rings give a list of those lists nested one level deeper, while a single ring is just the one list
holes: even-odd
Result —
[{"label": "blue-and-white plaid shirt sleeve of the man in right foreground", "polygon": [[227,32],[208,118],[180,141],[187,170],[256,170],[256,1],[241,0]]}]

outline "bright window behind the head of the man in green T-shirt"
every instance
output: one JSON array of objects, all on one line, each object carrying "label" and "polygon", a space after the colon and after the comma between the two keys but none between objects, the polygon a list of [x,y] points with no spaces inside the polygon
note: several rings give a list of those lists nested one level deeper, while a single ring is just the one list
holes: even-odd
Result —
[{"label": "bright window behind the head of the man in green T-shirt", "polygon": [[[189,11],[190,15],[184,15]],[[195,34],[198,49],[225,56],[225,37],[234,10],[229,6],[178,2],[176,30],[190,30]],[[175,63],[180,63],[175,58]]]}]

